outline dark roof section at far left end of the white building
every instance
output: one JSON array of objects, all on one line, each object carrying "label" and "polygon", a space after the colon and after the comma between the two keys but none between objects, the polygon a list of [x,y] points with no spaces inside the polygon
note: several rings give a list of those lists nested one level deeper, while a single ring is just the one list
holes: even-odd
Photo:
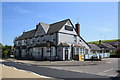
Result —
[{"label": "dark roof section at far left end of the white building", "polygon": [[35,32],[36,32],[36,29],[27,31],[27,32],[23,32],[23,34],[20,37],[18,37],[16,40],[31,38],[34,36]]}]

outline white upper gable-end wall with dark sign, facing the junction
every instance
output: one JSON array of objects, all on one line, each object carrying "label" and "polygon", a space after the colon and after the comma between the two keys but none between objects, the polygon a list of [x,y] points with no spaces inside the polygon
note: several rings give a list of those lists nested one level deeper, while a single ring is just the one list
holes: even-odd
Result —
[{"label": "white upper gable-end wall with dark sign, facing the junction", "polygon": [[[72,24],[69,21],[65,25],[74,27],[74,26],[72,26]],[[90,47],[79,36],[75,37],[75,35],[77,35],[75,29],[73,28],[73,31],[65,30],[65,25],[59,31],[62,33],[58,33],[58,37],[59,37],[58,44],[60,44],[61,42],[68,43],[69,45],[81,44],[81,45],[85,46],[85,48],[88,49],[88,53],[90,53]],[[67,34],[63,34],[63,33],[67,33]],[[73,35],[70,35],[70,34],[73,34]]]}]

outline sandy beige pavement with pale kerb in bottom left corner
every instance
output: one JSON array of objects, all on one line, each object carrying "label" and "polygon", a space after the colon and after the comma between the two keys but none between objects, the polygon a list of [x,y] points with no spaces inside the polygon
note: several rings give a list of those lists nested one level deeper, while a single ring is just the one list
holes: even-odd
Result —
[{"label": "sandy beige pavement with pale kerb in bottom left corner", "polygon": [[[0,62],[4,62],[4,60],[0,60]],[[0,78],[50,78],[42,75],[38,75],[34,72],[17,69],[15,67],[6,66],[4,64],[0,64]]]}]

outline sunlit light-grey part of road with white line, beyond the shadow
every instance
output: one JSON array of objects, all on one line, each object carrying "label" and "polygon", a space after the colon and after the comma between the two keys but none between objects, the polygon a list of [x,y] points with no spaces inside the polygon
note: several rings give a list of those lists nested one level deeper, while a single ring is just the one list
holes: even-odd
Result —
[{"label": "sunlit light-grey part of road with white line, beyond the shadow", "polygon": [[104,59],[105,63],[98,62],[97,65],[88,66],[46,66],[49,68],[96,74],[101,76],[115,77],[118,75],[118,58]]}]

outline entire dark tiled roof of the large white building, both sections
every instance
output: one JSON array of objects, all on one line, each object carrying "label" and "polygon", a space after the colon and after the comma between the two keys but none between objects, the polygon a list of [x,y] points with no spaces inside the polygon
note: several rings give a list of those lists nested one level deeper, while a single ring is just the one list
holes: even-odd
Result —
[{"label": "entire dark tiled roof of the large white building, both sections", "polygon": [[[60,21],[60,22],[56,22],[56,23],[53,23],[53,24],[50,24],[50,25],[49,24],[45,24],[45,23],[40,23],[40,24],[41,24],[41,26],[43,27],[43,29],[45,30],[46,33],[52,34],[52,33],[55,33],[57,31],[59,31],[68,20],[69,19],[66,19],[66,20],[63,20],[63,21]],[[35,32],[36,32],[36,29],[24,32],[16,40],[22,40],[22,39],[25,39],[25,38],[33,37]]]}]

